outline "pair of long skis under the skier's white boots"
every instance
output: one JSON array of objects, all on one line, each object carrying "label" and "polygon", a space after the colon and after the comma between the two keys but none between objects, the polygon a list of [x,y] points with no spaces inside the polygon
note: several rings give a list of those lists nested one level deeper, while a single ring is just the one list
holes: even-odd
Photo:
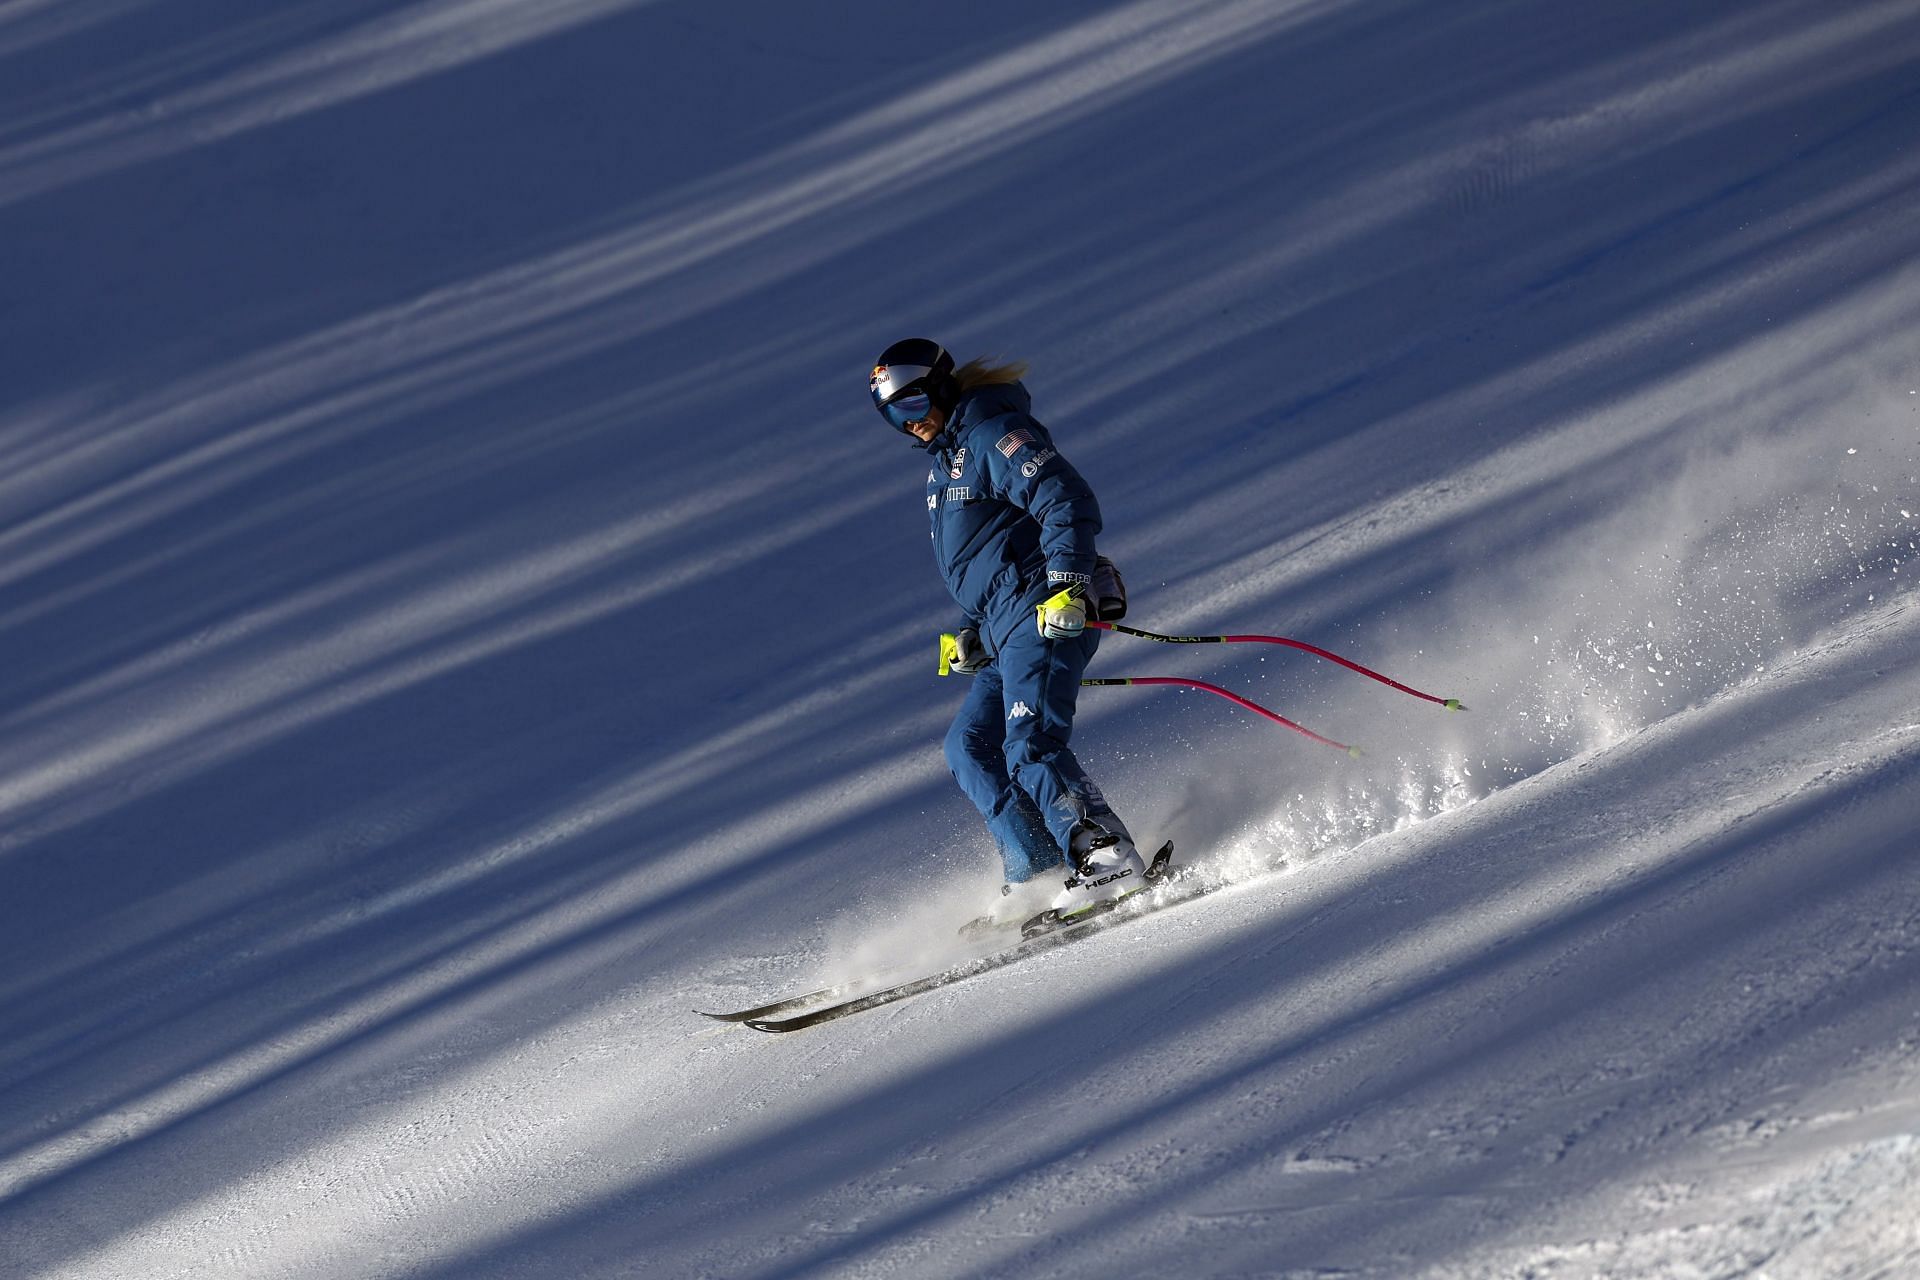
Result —
[{"label": "pair of long skis under the skier's white boots", "polygon": [[820,1023],[831,1023],[852,1013],[864,1013],[866,1009],[876,1009],[883,1004],[895,1004],[910,996],[920,996],[941,986],[952,986],[954,983],[970,977],[993,973],[995,969],[1004,969],[1006,965],[1020,963],[1021,960],[1039,956],[1041,952],[1066,946],[1068,942],[1091,938],[1104,929],[1150,915],[1152,912],[1160,912],[1206,892],[1200,885],[1183,892],[1179,887],[1167,883],[1167,865],[1171,862],[1173,841],[1167,841],[1158,852],[1154,852],[1152,862],[1146,865],[1148,889],[1106,902],[1092,912],[1083,912],[1071,919],[1060,919],[1056,912],[1041,912],[1020,927],[1020,942],[993,952],[991,956],[964,960],[956,965],[941,969],[939,973],[908,979],[904,983],[893,983],[891,986],[881,986],[877,990],[860,990],[864,986],[872,986],[876,979],[856,979],[851,983],[839,983],[837,986],[822,986],[820,990],[787,996],[785,1000],[762,1004],[753,1009],[737,1009],[733,1013],[701,1013],[701,1017],[710,1017],[722,1023],[741,1023],[743,1027],[768,1032],[801,1031],[804,1027],[818,1027]]}]

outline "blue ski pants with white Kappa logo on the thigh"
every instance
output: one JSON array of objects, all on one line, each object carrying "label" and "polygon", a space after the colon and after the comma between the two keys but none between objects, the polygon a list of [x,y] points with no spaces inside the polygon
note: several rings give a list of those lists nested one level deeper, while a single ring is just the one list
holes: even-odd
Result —
[{"label": "blue ski pants with white Kappa logo on the thigh", "polygon": [[1127,835],[1068,747],[1079,679],[1098,647],[1098,631],[1048,641],[1023,628],[973,676],[947,731],[947,766],[987,819],[1008,883],[1066,862],[1081,819]]}]

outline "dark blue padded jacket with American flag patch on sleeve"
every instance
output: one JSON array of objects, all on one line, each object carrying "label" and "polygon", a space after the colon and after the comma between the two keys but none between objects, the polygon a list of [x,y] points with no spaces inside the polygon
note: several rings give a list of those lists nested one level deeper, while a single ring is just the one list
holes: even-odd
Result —
[{"label": "dark blue padded jacket with American flag patch on sleeve", "polygon": [[1092,578],[1100,505],[1029,416],[1027,388],[975,388],[933,439],[927,520],[947,589],[993,652],[1035,606]]}]

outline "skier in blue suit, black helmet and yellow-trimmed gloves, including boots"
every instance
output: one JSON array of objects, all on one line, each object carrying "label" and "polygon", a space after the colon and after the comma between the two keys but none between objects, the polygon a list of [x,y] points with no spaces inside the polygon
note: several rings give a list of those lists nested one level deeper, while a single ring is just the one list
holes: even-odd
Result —
[{"label": "skier in blue suit, black helmet and yellow-trimmed gloves, including boots", "polygon": [[[1100,507],[1027,409],[1025,365],[958,370],[937,342],[906,338],[874,365],[874,407],[933,455],[933,558],[966,626],[941,637],[941,674],[973,677],[947,731],[947,764],[1000,848],[1006,883],[993,923],[1062,917],[1146,887],[1146,867],[1068,739],[1087,628],[1125,610],[1094,555]],[[1068,865],[1068,875],[1046,875]],[[1058,892],[1048,896],[1048,890]]]}]

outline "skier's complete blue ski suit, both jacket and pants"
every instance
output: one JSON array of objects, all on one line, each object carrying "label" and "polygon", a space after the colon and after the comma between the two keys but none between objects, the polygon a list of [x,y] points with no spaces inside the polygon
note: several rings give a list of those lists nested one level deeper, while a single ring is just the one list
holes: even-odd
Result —
[{"label": "skier's complete blue ski suit, both jacket and pants", "polygon": [[1010,883],[1060,865],[1083,819],[1127,837],[1068,747],[1100,633],[1048,641],[1037,626],[1041,601],[1091,580],[1100,505],[1031,403],[1018,382],[962,393],[927,472],[933,558],[993,652],[947,731],[947,764]]}]

